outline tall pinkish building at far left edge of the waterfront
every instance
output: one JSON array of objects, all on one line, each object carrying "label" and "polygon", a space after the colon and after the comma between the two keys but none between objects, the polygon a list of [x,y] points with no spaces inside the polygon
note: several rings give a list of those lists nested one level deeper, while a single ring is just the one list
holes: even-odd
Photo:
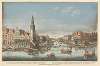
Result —
[{"label": "tall pinkish building at far left edge of the waterfront", "polygon": [[11,48],[11,44],[13,42],[13,35],[15,33],[14,29],[7,28],[3,26],[3,44],[2,48]]}]

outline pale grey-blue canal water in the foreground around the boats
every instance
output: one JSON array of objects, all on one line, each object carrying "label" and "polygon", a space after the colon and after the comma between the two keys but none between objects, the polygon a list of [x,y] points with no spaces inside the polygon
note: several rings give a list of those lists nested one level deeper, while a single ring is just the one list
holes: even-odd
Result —
[{"label": "pale grey-blue canal water in the foreground around the boats", "polygon": [[[63,47],[64,48],[64,47]],[[66,47],[65,47],[66,48]],[[38,55],[29,55],[24,51],[5,51],[2,53],[2,59],[4,61],[96,61],[97,55],[88,59],[84,58],[84,52],[86,48],[72,48],[71,54],[61,53],[62,47],[52,47],[51,50],[45,53],[39,53]],[[95,47],[87,48],[89,51],[97,51]],[[55,58],[48,58],[48,53],[54,53]],[[95,54],[97,54],[95,52]]]}]

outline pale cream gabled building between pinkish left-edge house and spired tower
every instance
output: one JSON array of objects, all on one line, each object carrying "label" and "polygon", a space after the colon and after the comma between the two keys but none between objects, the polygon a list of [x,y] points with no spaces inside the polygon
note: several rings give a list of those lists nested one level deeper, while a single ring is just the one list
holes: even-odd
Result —
[{"label": "pale cream gabled building between pinkish left-edge house and spired tower", "polygon": [[18,28],[16,28],[13,40],[14,40],[12,44],[13,49],[30,48],[29,34],[24,30],[19,30]]}]

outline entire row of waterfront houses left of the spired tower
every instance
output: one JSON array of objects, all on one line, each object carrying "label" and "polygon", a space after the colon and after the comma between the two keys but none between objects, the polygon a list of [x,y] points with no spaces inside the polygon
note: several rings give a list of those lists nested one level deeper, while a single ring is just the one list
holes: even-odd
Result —
[{"label": "entire row of waterfront houses left of the spired tower", "polygon": [[21,29],[10,29],[3,27],[2,48],[30,48],[30,33]]}]

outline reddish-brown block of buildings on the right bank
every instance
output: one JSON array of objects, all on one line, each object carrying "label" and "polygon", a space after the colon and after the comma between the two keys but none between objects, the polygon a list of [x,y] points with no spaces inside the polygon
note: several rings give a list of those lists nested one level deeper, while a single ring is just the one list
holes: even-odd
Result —
[{"label": "reddish-brown block of buildings on the right bank", "polygon": [[74,32],[72,34],[74,44],[83,45],[85,42],[96,42],[97,32]]}]

